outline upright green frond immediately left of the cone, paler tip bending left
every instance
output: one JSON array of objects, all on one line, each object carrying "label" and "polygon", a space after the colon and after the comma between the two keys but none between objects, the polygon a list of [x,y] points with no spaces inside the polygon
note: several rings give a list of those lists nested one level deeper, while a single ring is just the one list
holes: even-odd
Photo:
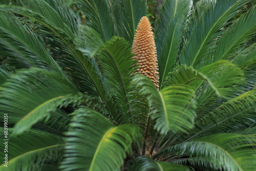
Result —
[{"label": "upright green frond immediately left of the cone, paler tip bending left", "polygon": [[76,40],[77,48],[95,61],[95,67],[99,68],[98,74],[103,75],[102,81],[111,99],[108,107],[122,113],[113,112],[111,118],[117,123],[136,122],[144,127],[148,105],[142,96],[135,93],[138,90],[133,86],[132,73],[137,67],[136,61],[132,59],[130,45],[120,37],[112,37],[105,43],[101,39],[96,42],[98,33],[88,27],[84,29]]}]

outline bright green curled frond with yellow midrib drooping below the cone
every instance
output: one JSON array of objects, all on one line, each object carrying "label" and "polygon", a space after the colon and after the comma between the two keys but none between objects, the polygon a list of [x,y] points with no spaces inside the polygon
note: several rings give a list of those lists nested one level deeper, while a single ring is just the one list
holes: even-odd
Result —
[{"label": "bright green curled frond with yellow midrib drooping below the cone", "polygon": [[150,114],[156,119],[157,131],[161,134],[168,131],[187,132],[193,127],[196,103],[193,100],[195,91],[192,87],[177,84],[157,91],[153,82],[146,77],[137,77],[136,82],[137,85],[142,84],[140,92],[147,96],[152,105]]}]

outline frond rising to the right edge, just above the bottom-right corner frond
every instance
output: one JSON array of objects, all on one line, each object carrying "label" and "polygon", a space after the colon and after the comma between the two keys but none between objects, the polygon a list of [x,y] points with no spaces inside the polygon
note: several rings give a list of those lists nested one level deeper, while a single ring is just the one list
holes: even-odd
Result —
[{"label": "frond rising to the right edge, just above the bottom-right corner frond", "polygon": [[[193,140],[198,137],[214,135],[216,133],[241,133],[253,126],[255,117],[255,90],[246,92],[228,101],[208,101],[196,110],[197,118],[194,129],[188,135],[173,134],[165,140],[163,149],[168,144],[174,145],[183,141]],[[239,131],[240,130],[240,131]],[[248,130],[254,134],[253,129]]]}]

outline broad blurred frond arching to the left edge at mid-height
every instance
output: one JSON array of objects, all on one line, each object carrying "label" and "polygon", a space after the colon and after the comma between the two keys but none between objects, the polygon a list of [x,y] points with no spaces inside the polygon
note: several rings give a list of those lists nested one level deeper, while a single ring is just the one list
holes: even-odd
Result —
[{"label": "broad blurred frond arching to the left edge at mid-height", "polygon": [[82,97],[69,81],[58,74],[30,69],[19,72],[3,84],[0,105],[3,112],[10,114],[10,123],[16,123],[14,134],[19,134],[58,106],[79,102]]}]

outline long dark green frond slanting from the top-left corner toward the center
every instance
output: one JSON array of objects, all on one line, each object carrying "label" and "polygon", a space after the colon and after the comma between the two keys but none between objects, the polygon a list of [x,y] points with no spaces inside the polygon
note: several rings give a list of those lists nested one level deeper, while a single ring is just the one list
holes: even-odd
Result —
[{"label": "long dark green frond slanting from the top-left corner toward the center", "polygon": [[[82,52],[78,51],[74,46],[74,39],[76,37],[76,31],[71,30],[65,19],[65,16],[61,16],[60,12],[55,11],[51,5],[58,1],[49,2],[37,0],[36,5],[33,2],[22,1],[22,5],[27,5],[30,9],[17,6],[0,6],[0,10],[11,11],[26,17],[37,20],[44,28],[46,36],[53,37],[55,44],[59,44],[66,55],[65,62],[70,67],[70,72],[73,74],[73,78],[82,87],[82,91],[90,92],[90,94],[98,95],[104,102],[106,109],[111,113],[115,113],[115,109],[112,106],[112,101],[108,96],[108,92],[104,87],[103,78],[98,70],[97,62],[93,58],[88,58],[82,55]],[[28,4],[27,4],[28,3]],[[1,8],[2,7],[2,8]],[[31,12],[33,10],[33,12]],[[50,11],[49,13],[47,11]],[[72,15],[70,15],[72,16]],[[66,21],[66,22],[65,22]],[[51,34],[50,34],[51,33]]]}]

